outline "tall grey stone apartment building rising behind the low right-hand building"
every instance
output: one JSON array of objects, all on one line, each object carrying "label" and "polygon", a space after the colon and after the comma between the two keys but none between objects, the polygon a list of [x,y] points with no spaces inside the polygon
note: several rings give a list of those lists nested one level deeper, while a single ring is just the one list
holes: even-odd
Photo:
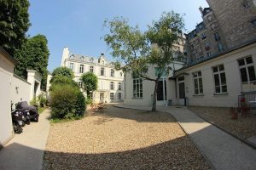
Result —
[{"label": "tall grey stone apartment building rising behind the low right-hand building", "polygon": [[189,65],[256,38],[256,8],[252,0],[207,0],[207,3],[210,8],[199,8],[203,21],[185,35]]}]

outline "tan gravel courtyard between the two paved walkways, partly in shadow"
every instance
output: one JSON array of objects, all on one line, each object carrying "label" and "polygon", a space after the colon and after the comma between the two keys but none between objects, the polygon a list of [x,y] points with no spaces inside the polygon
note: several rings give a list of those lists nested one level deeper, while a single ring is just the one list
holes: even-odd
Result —
[{"label": "tan gravel courtyard between the two paved walkways, partly in shadow", "polygon": [[52,124],[43,169],[209,169],[169,114],[107,109]]}]

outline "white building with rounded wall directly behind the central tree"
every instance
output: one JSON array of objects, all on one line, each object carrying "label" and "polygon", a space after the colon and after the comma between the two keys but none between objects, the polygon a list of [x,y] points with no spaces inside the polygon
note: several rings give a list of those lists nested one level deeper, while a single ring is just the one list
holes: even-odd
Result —
[{"label": "white building with rounded wall directly behind the central tree", "polygon": [[[170,79],[173,71],[183,67],[183,62],[173,61],[170,65],[172,71],[163,74],[158,82],[156,105],[171,105],[171,100],[176,99],[175,82]],[[157,67],[148,67],[148,77],[156,78]],[[125,105],[153,105],[154,82],[141,78],[133,78],[130,72],[125,73]],[[176,101],[176,100],[175,100]]]}]

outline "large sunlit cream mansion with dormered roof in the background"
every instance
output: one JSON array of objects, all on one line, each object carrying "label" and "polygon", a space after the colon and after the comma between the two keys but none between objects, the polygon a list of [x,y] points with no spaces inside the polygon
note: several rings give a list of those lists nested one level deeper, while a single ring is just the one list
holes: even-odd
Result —
[{"label": "large sunlit cream mansion with dormered roof in the background", "polygon": [[99,58],[72,54],[68,48],[63,49],[61,66],[67,66],[74,72],[74,81],[79,82],[84,72],[93,72],[98,77],[98,89],[93,94],[95,102],[120,102],[124,99],[124,74],[114,69],[104,54]]}]

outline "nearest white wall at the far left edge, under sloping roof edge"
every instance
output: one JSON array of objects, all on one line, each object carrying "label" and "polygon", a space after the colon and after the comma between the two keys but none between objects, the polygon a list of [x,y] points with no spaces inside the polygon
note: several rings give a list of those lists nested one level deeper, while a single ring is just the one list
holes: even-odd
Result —
[{"label": "nearest white wall at the far left edge, under sloping roof edge", "polygon": [[11,119],[11,82],[14,64],[0,51],[0,148],[13,136]]}]

